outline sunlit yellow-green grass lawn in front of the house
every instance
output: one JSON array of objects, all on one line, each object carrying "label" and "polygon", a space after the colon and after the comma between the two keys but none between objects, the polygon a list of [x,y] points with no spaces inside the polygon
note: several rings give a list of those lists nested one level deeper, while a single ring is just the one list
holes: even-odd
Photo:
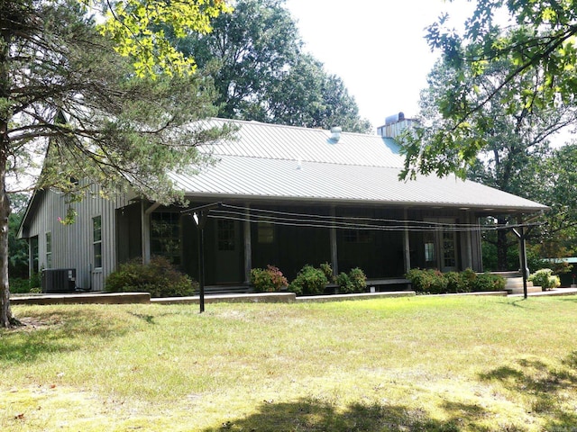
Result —
[{"label": "sunlit yellow-green grass lawn in front of the house", "polygon": [[577,430],[577,296],[13,309],[2,431]]}]

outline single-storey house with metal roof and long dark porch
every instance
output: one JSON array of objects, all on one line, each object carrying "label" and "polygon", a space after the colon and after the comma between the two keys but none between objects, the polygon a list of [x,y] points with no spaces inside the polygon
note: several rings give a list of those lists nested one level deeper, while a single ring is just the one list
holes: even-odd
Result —
[{"label": "single-storey house with metal roof and long dark porch", "polygon": [[[394,136],[410,125],[402,113],[377,135],[234,123],[236,139],[202,148],[214,166],[172,177],[188,209],[208,206],[207,285],[247,284],[251,268],[269,264],[289,279],[306,264],[328,262],[334,272],[359,266],[383,285],[412,267],[482,271],[481,217],[546,209],[453,176],[399,181],[403,157]],[[119,263],[160,255],[197,278],[200,211],[94,196],[74,204],[76,223],[62,225],[66,197],[33,195],[20,236],[30,241],[34,271],[74,269],[79,288],[100,291]]]}]

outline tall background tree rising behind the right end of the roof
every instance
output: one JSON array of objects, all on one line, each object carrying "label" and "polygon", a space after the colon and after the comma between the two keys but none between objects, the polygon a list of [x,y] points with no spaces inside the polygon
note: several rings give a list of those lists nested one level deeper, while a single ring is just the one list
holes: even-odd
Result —
[{"label": "tall background tree rising behind the right end of the roof", "polygon": [[[542,183],[542,161],[551,152],[549,138],[577,120],[577,111],[562,102],[555,106],[535,105],[527,109],[526,101],[518,94],[522,94],[527,85],[538,85],[539,76],[534,73],[516,76],[507,85],[496,88],[513,68],[513,62],[503,59],[493,62],[483,74],[475,76],[474,70],[466,64],[454,67],[451,61],[439,61],[428,76],[429,87],[422,92],[423,127],[417,130],[417,139],[408,136],[406,148],[421,151],[421,139],[435,140],[450,128],[452,121],[445,119],[442,112],[448,101],[447,95],[461,90],[458,81],[464,74],[470,77],[470,84],[474,87],[468,96],[470,102],[480,103],[480,108],[469,117],[467,129],[472,135],[481,137],[483,143],[475,155],[474,165],[466,173],[467,177],[504,192],[537,199]],[[494,95],[493,99],[481,104],[489,94]],[[457,151],[457,148],[453,150]],[[428,156],[427,152],[435,151],[437,148],[431,146],[422,154]],[[444,157],[458,157],[454,151],[448,150]],[[497,216],[499,225],[509,221],[506,214]],[[497,247],[497,269],[508,270],[508,247],[516,245],[517,239],[508,236],[504,229],[487,234],[485,239]]]}]

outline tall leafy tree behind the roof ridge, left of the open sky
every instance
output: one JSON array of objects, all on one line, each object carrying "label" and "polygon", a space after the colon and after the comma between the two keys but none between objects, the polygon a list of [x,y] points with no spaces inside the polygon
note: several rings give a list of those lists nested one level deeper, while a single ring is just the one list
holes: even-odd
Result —
[{"label": "tall leafy tree behind the roof ridge, left of the open sky", "polygon": [[285,0],[241,0],[213,31],[177,46],[200,67],[212,65],[224,118],[367,132],[343,80],[302,51]]}]

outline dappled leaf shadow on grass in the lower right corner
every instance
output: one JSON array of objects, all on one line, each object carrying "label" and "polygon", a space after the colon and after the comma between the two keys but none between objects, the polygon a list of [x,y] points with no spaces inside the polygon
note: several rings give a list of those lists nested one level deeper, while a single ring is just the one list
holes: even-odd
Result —
[{"label": "dappled leaf shadow on grass in the lower right corner", "polygon": [[501,366],[480,374],[481,381],[498,382],[519,400],[527,411],[545,419],[545,430],[577,431],[577,412],[572,400],[577,388],[577,351],[552,367],[535,359],[520,359],[517,367]]}]

